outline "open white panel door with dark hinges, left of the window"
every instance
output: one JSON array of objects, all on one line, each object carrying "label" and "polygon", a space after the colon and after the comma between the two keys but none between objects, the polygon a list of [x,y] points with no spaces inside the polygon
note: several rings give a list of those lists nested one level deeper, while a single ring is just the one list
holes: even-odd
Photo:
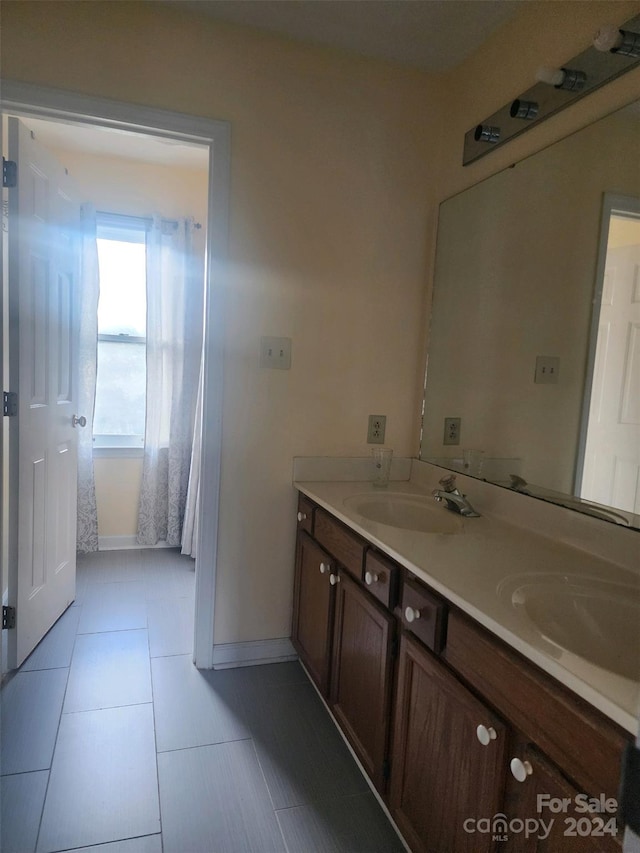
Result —
[{"label": "open white panel door with dark hinges, left of the window", "polygon": [[80,205],[65,169],[15,118],[9,157],[18,164],[9,191],[14,668],[75,598]]}]

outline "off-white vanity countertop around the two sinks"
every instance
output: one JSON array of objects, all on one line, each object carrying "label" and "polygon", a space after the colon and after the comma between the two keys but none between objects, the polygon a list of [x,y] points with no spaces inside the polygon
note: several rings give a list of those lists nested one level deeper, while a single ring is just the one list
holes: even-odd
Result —
[{"label": "off-white vanity countertop around the two sinks", "polygon": [[[419,533],[373,522],[345,504],[356,495],[383,493],[367,481],[297,480],[294,486],[610,719],[637,733],[640,684],[547,642],[511,604],[511,590],[500,594],[498,589],[501,584],[517,585],[520,576],[532,574],[605,579],[640,589],[638,571],[485,512],[480,518],[455,516],[460,523],[455,534]],[[394,481],[386,491],[430,495],[425,481]],[[482,511],[472,489],[468,491],[473,505]],[[637,535],[638,539],[628,540],[634,553],[640,547]],[[631,557],[633,561],[633,553]],[[628,650],[636,655],[640,654],[640,625],[638,631],[638,648]]]}]

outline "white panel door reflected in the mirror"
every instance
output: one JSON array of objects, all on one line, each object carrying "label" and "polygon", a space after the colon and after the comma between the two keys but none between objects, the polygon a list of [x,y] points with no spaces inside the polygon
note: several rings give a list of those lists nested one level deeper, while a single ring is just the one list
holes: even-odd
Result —
[{"label": "white panel door reflected in the mirror", "polygon": [[640,200],[605,197],[602,234],[578,494],[640,513]]}]

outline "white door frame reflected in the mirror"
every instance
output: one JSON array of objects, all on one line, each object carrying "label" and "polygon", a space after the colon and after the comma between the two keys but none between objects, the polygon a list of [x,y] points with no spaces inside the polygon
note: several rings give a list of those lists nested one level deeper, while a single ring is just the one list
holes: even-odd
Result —
[{"label": "white door frame reflected in the mirror", "polygon": [[598,259],[596,278],[593,290],[593,309],[591,326],[589,328],[589,348],[587,351],[587,366],[585,371],[584,392],[582,394],[582,413],[580,416],[580,431],[578,433],[578,452],[573,479],[573,494],[580,497],[584,477],[585,451],[587,449],[587,432],[589,429],[589,414],[591,412],[591,394],[596,365],[596,348],[598,346],[598,331],[600,327],[600,311],[602,309],[602,292],[604,290],[604,272],[607,263],[607,246],[609,244],[609,223],[615,213],[630,216],[640,216],[640,199],[635,196],[620,193],[603,193],[602,211],[600,214],[600,234],[598,237]]}]

